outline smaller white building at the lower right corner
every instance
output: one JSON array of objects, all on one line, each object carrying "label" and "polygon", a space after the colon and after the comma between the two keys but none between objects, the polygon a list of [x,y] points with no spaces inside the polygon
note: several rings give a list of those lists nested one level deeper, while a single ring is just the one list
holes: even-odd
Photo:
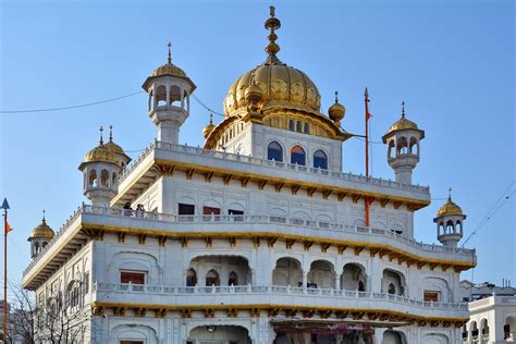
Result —
[{"label": "smaller white building at the lower right corner", "polygon": [[491,283],[460,282],[463,299],[469,300],[470,319],[463,328],[463,343],[516,342],[516,288]]}]

